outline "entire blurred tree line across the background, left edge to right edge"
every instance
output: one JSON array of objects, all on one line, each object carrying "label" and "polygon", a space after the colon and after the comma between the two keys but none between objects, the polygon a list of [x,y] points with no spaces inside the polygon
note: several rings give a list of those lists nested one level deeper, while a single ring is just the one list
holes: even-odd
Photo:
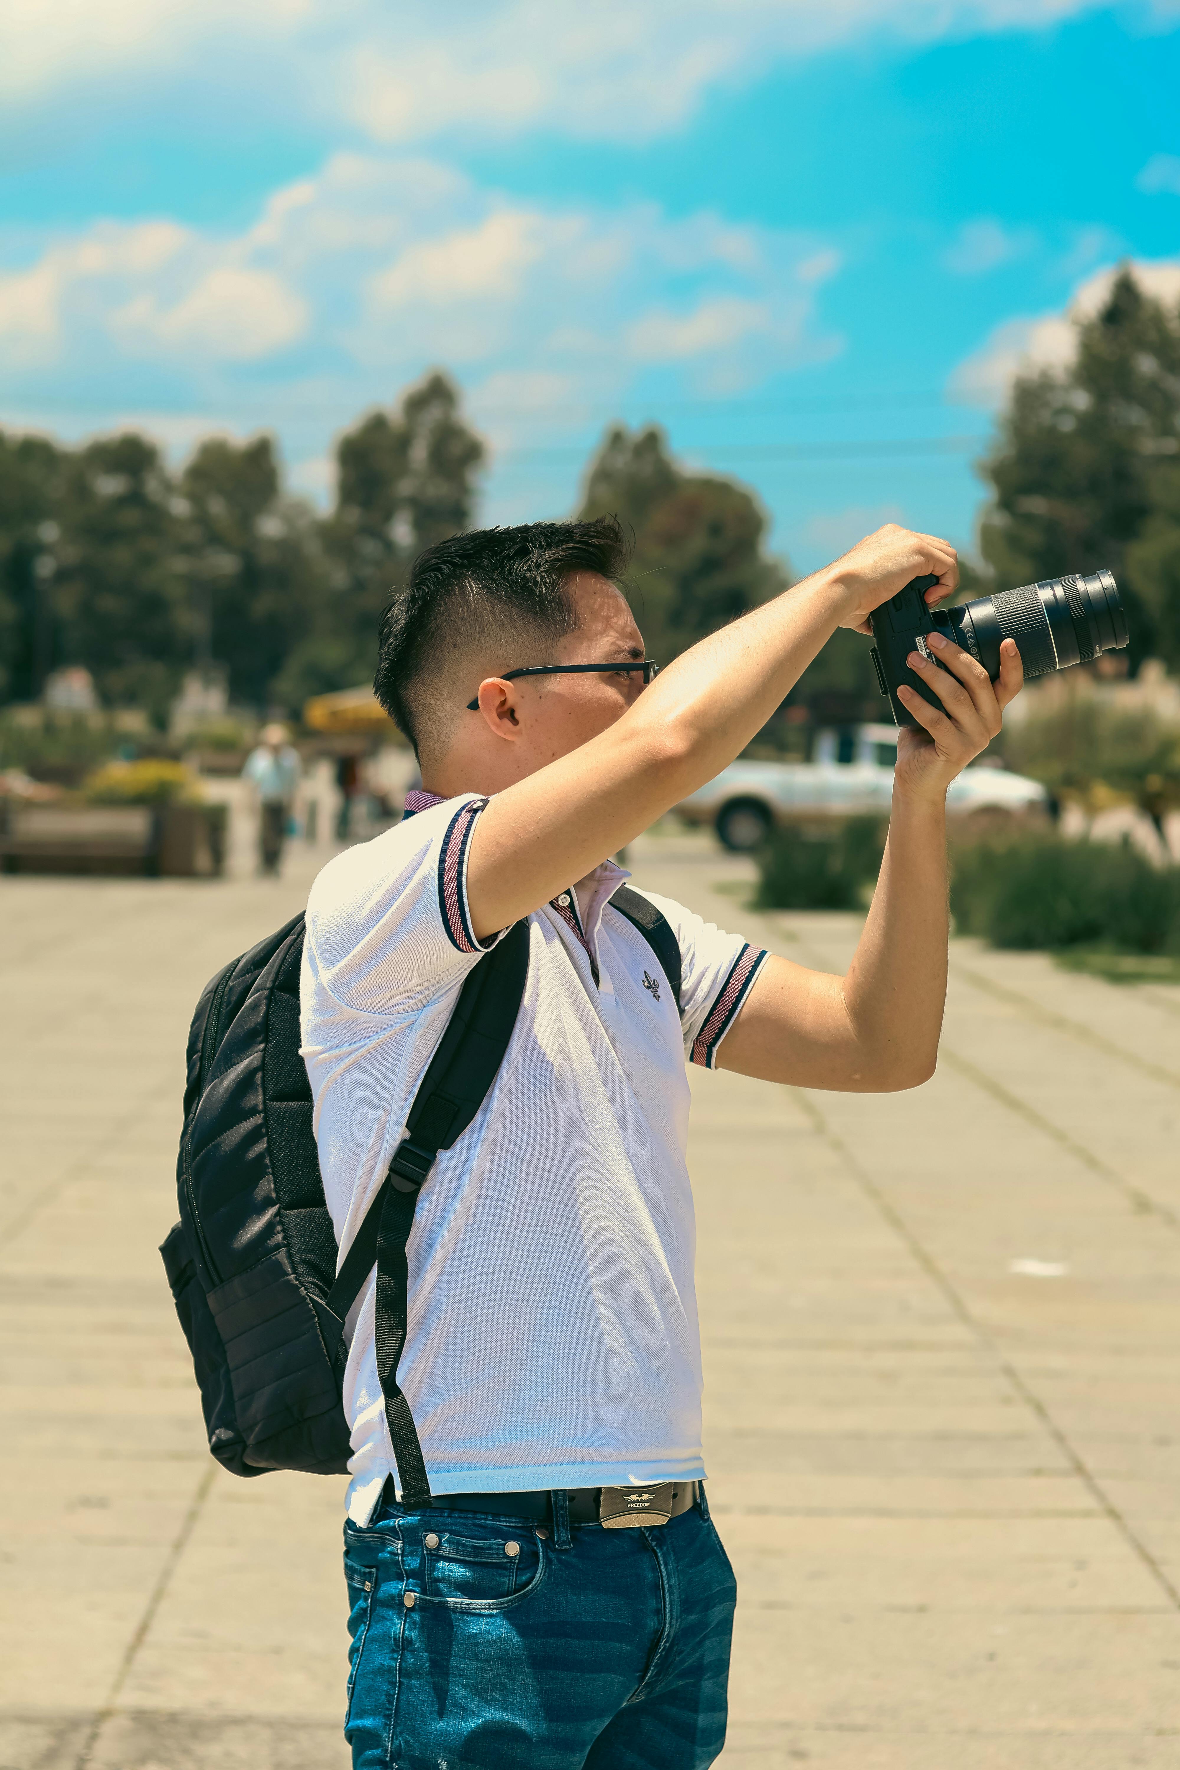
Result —
[{"label": "entire blurred tree line across the background, left edge to right edge", "polygon": [[[439,372],[341,437],[327,515],[285,492],[269,437],[211,439],[173,473],[138,434],[60,448],[0,432],[0,703],[69,664],[108,706],[159,720],[193,667],[228,671],[257,710],[361,683],[386,596],[421,547],[474,522],[483,466]],[[1109,565],[1130,667],[1180,667],[1180,306],[1123,271],[1076,359],[1015,382],[982,473],[985,565],[964,563],[962,595]],[[607,434],[582,503],[601,512],[635,531],[628,589],[660,662],[789,582],[757,499],[683,471],[655,427]],[[879,717],[865,641],[839,632],[791,703]]]}]

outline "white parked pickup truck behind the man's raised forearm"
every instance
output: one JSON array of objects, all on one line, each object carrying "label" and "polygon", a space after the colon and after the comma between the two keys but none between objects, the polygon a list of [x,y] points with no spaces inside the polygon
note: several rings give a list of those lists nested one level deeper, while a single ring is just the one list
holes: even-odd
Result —
[{"label": "white parked pickup truck behind the man's raised forearm", "polygon": [[[731,763],[715,781],[676,805],[685,823],[713,825],[724,848],[748,853],[787,823],[821,823],[865,812],[886,816],[897,761],[895,726],[856,726],[816,733],[814,761]],[[989,766],[985,759],[950,782],[946,809],[955,818],[980,814],[1047,818],[1051,800],[1038,781]]]}]

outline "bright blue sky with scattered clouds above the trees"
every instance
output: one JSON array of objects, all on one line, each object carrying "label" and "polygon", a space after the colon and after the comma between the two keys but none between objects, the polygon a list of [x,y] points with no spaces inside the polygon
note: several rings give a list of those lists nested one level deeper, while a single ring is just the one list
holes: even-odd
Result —
[{"label": "bright blue sky with scattered clouds above the trees", "polygon": [[971,549],[1014,370],[1120,258],[1180,297],[1176,94],[1176,0],[9,0],[0,423],[267,428],[326,497],[441,363],[487,520],[617,416],[796,570]]}]

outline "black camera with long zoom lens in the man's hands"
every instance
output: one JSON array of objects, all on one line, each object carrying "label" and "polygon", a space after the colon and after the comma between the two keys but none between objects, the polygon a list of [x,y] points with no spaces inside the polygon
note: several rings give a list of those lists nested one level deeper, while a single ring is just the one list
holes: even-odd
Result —
[{"label": "black camera with long zoom lens in the man's hands", "polygon": [[915,577],[870,616],[876,639],[872,662],[881,694],[888,696],[897,724],[911,731],[920,727],[897,699],[902,683],[916,689],[931,706],[943,708],[934,690],[906,669],[911,651],[939,662],[925,643],[927,634],[945,634],[962,646],[992,681],[1000,674],[1003,639],[1015,639],[1026,676],[1047,676],[1053,669],[1088,664],[1100,651],[1120,651],[1127,644],[1127,616],[1107,570],[1090,572],[1088,577],[1047,577],[1038,584],[1021,584],[1019,589],[1001,589],[994,596],[977,596],[957,609],[931,609],[925,591],[932,584],[938,584],[936,577]]}]

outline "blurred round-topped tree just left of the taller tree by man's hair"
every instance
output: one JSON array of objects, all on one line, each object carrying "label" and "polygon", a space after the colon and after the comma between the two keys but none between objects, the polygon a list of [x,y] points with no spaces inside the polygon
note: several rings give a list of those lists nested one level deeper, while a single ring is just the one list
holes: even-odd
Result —
[{"label": "blurred round-topped tree just left of the taller tree by man's hair", "polygon": [[318,524],[283,497],[269,437],[202,442],[180,494],[193,664],[225,666],[235,701],[281,701],[278,678],[327,593]]}]

